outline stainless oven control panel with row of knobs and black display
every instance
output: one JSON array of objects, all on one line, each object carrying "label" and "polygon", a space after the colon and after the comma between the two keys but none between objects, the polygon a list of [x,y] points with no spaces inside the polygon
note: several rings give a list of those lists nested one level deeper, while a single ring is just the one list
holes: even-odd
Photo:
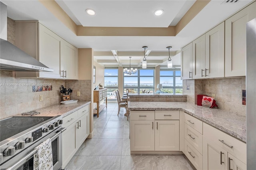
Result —
[{"label": "stainless oven control panel with row of knobs and black display", "polygon": [[[43,125],[37,126],[32,130],[27,131],[21,136],[15,136],[13,140],[10,140],[7,143],[0,143],[0,165],[5,161],[12,158],[12,156],[22,152],[22,150],[32,146],[35,142],[44,138],[54,130],[60,128],[60,124],[62,124],[62,117],[58,116],[56,118],[52,118],[48,122]],[[36,146],[33,146],[36,147]]]}]

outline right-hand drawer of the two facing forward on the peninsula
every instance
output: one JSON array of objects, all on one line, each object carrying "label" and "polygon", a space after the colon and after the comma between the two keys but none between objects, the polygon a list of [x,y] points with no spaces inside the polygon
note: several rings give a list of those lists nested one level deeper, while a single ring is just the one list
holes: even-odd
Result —
[{"label": "right-hand drawer of the two facing forward on the peninsula", "polygon": [[179,110],[156,110],[155,120],[179,120]]}]

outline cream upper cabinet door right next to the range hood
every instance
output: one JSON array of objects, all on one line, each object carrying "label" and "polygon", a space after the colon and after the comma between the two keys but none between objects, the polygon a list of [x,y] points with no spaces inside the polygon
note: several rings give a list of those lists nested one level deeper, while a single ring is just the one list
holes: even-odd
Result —
[{"label": "cream upper cabinet door right next to the range hood", "polygon": [[60,78],[60,40],[54,32],[39,24],[39,61],[53,72],[39,72],[42,78]]}]

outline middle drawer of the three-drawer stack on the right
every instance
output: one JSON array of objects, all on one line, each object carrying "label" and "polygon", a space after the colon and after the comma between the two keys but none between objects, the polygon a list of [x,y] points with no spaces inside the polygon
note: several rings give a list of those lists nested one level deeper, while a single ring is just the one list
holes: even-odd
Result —
[{"label": "middle drawer of the three-drawer stack on the right", "polygon": [[203,154],[203,135],[184,124],[184,138],[192,145],[194,148]]}]

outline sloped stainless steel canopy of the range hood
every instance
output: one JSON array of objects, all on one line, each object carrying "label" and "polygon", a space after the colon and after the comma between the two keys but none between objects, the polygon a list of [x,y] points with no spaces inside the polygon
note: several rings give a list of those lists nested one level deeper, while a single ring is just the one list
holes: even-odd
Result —
[{"label": "sloped stainless steel canopy of the range hood", "polygon": [[12,71],[44,71],[53,72],[20,48],[0,38],[0,69]]}]

